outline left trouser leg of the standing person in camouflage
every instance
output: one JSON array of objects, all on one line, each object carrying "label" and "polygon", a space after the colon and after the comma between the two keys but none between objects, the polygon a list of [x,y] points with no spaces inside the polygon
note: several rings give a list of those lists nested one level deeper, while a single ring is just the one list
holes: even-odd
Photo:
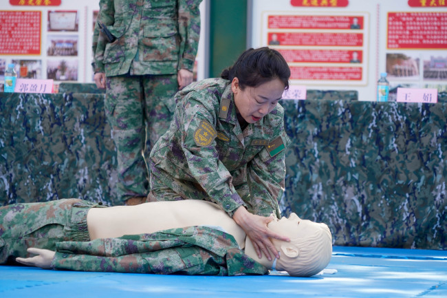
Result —
[{"label": "left trouser leg of the standing person in camouflage", "polygon": [[146,126],[143,116],[142,76],[107,77],[105,111],[118,159],[118,200],[146,197],[148,176],[142,156]]}]

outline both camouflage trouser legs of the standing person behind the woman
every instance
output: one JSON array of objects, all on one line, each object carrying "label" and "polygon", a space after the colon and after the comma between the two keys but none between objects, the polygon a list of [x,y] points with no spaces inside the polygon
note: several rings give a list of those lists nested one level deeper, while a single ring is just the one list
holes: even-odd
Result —
[{"label": "both camouflage trouser legs of the standing person behind the woman", "polygon": [[105,113],[118,159],[118,200],[149,193],[151,148],[166,132],[175,110],[177,74],[107,77]]}]

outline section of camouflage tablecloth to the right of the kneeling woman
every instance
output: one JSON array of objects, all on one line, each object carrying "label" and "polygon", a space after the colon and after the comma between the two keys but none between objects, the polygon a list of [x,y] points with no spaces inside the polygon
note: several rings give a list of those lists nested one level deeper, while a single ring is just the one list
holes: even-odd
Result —
[{"label": "section of camouflage tablecloth to the right of the kneeling woman", "polygon": [[327,223],[336,245],[447,248],[446,104],[281,105],[283,213]]}]

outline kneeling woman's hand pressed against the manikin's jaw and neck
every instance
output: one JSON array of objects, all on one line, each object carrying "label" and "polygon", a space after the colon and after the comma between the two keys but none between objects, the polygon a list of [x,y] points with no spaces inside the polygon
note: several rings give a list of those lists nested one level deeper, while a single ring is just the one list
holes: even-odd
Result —
[{"label": "kneeling woman's hand pressed against the manikin's jaw and neck", "polygon": [[273,216],[263,217],[254,215],[248,212],[245,207],[240,206],[233,215],[233,220],[239,224],[243,231],[246,232],[250,240],[252,240],[254,250],[256,251],[259,259],[262,257],[261,252],[264,253],[265,257],[267,257],[269,261],[272,261],[272,256],[270,253],[272,253],[276,259],[279,259],[279,253],[276,251],[276,248],[274,247],[270,238],[287,242],[290,241],[288,237],[279,235],[268,229],[267,224],[274,220]]}]

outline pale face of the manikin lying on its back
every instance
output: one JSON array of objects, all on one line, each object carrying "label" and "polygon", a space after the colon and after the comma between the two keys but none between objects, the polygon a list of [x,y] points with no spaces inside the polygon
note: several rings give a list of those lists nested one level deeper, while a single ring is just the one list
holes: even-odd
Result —
[{"label": "pale face of the manikin lying on its back", "polygon": [[272,222],[268,224],[268,228],[293,240],[296,238],[309,237],[315,233],[316,228],[320,228],[320,225],[320,223],[312,222],[310,220],[301,220],[298,215],[291,213],[288,218],[282,217],[281,220],[272,220]]}]

